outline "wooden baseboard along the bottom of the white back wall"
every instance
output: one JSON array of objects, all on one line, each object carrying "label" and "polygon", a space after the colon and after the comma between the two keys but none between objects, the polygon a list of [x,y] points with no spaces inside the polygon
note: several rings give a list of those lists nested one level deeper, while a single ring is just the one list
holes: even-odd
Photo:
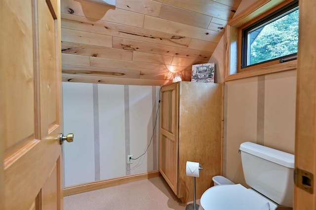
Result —
[{"label": "wooden baseboard along the bottom of the white back wall", "polygon": [[92,190],[98,190],[98,189],[102,189],[106,187],[112,187],[112,186],[125,184],[132,181],[138,181],[138,180],[153,178],[157,176],[160,176],[160,173],[158,170],[136,174],[136,175],[126,175],[126,176],[121,176],[118,178],[111,178],[107,180],[93,181],[89,183],[73,185],[73,186],[64,188],[64,196],[74,195],[74,194],[88,192]]}]

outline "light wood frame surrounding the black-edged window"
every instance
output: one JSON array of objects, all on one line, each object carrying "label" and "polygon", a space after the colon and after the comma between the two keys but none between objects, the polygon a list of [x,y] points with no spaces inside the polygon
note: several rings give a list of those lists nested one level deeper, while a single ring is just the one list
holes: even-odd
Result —
[{"label": "light wood frame surrounding the black-edged window", "polygon": [[241,31],[268,14],[287,5],[293,0],[258,0],[233,17],[227,24],[224,35],[225,81],[259,76],[284,70],[295,70],[297,60],[279,63],[274,60],[241,70]]}]

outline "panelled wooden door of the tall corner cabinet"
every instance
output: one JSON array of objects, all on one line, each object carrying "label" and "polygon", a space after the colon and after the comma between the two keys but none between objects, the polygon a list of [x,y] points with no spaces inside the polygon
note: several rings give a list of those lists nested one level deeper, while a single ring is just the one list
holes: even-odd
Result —
[{"label": "panelled wooden door of the tall corner cabinet", "polygon": [[161,88],[159,172],[178,195],[179,83]]}]

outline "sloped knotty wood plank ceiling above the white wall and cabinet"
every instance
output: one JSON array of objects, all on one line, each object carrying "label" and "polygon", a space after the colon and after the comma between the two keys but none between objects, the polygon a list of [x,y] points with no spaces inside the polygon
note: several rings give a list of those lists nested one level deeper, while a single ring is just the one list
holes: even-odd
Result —
[{"label": "sloped knotty wood plank ceiling above the white wall and cabinet", "polygon": [[63,81],[163,85],[207,63],[241,0],[61,0]]}]

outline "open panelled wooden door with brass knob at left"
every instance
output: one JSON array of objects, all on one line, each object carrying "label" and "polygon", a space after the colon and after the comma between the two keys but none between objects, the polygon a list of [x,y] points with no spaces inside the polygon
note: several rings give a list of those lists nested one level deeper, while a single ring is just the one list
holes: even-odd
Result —
[{"label": "open panelled wooden door with brass knob at left", "polygon": [[0,209],[60,210],[60,2],[1,0],[0,24]]}]

